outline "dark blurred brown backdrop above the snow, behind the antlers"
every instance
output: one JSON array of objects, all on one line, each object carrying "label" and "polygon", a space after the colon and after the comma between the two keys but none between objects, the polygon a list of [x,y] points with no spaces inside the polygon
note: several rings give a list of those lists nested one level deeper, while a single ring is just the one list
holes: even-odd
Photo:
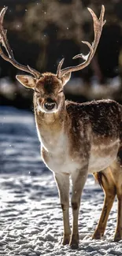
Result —
[{"label": "dark blurred brown backdrop above the snow, behind the antlers", "polygon": [[[122,1],[121,0],[1,0],[8,6],[4,28],[17,61],[39,72],[57,72],[78,65],[76,54],[88,53],[81,43],[94,40],[93,22],[87,7],[99,16],[105,5],[105,24],[91,65],[72,73],[65,97],[77,102],[113,98],[122,103]],[[0,58],[0,105],[32,109],[32,91],[17,82],[20,72]]]}]

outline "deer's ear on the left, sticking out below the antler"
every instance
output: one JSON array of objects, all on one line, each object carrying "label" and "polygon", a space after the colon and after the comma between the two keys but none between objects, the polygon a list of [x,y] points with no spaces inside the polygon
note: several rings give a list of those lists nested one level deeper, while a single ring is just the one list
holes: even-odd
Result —
[{"label": "deer's ear on the left, sticking out below the antler", "polygon": [[17,80],[22,83],[25,87],[34,89],[35,88],[35,78],[32,76],[24,76],[24,75],[17,75]]}]

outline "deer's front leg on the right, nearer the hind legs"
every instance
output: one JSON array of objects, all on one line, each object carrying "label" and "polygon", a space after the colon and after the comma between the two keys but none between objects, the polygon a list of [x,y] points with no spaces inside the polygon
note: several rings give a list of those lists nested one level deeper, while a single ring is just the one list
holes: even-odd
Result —
[{"label": "deer's front leg on the right, nearer the hind legs", "polygon": [[84,184],[87,180],[87,165],[83,169],[76,170],[72,173],[72,236],[70,240],[70,246],[72,249],[76,249],[79,245],[79,231],[78,231],[78,217],[81,193],[83,191]]}]

